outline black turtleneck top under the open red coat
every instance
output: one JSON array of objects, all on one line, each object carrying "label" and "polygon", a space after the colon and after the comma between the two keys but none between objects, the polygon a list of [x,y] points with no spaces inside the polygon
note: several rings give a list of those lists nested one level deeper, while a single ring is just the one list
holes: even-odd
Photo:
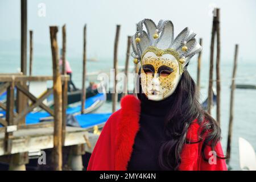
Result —
[{"label": "black turtleneck top under the open red coat", "polygon": [[165,140],[164,120],[173,98],[162,101],[148,100],[139,94],[141,117],[135,137],[133,152],[127,170],[161,170],[158,162],[160,146]]}]

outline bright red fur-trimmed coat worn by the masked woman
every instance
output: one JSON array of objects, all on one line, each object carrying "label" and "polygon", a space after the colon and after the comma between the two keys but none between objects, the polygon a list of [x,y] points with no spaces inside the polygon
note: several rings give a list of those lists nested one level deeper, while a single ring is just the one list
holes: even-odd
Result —
[{"label": "bright red fur-trimmed coat worn by the masked woman", "polygon": [[[140,101],[134,96],[126,96],[121,101],[121,109],[110,116],[96,146],[90,157],[87,170],[96,171],[125,171],[133,151],[135,136],[139,130],[139,115],[141,112]],[[192,122],[187,132],[187,139],[196,141],[199,124],[197,120]],[[223,170],[226,171],[224,159],[216,158],[216,163],[205,162],[201,155],[203,142],[184,144],[181,152],[180,170]],[[205,154],[212,151],[210,146],[205,147]],[[223,156],[220,142],[215,151]],[[210,155],[206,155],[209,156]]]}]

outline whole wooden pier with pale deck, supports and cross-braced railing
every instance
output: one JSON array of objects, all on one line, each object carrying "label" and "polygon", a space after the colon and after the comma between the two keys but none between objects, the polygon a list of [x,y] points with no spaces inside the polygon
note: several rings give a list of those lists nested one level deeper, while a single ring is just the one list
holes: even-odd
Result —
[{"label": "whole wooden pier with pale deck, supports and cross-braced railing", "polygon": [[[69,80],[69,76],[62,75],[61,82],[67,82]],[[6,117],[0,118],[0,123],[3,127],[0,128],[0,161],[6,162],[10,164],[9,169],[11,170],[24,170],[25,164],[28,163],[28,154],[31,151],[41,151],[47,148],[52,148],[53,151],[56,148],[54,145],[54,137],[63,138],[63,142],[60,147],[72,146],[73,148],[77,148],[81,146],[81,144],[86,144],[86,139],[92,138],[93,134],[89,134],[87,129],[82,129],[81,127],[66,127],[65,125],[61,125],[60,131],[56,135],[56,122],[39,122],[35,124],[26,124],[21,121],[26,117],[28,113],[30,113],[35,107],[41,107],[47,113],[55,117],[55,113],[51,108],[49,108],[43,101],[53,93],[53,97],[56,98],[56,94],[53,92],[54,86],[56,86],[56,82],[53,82],[53,88],[49,88],[42,96],[36,98],[30,91],[27,86],[29,82],[32,81],[52,81],[52,76],[23,76],[17,74],[2,74],[0,75],[0,82],[3,82],[1,85],[1,92],[7,90],[7,100],[6,104],[1,103],[0,107],[6,111]],[[23,83],[24,85],[22,85]],[[18,96],[15,97],[14,90],[18,92],[22,92],[26,99],[31,100],[32,104],[26,104],[26,107],[23,107],[22,111],[16,111],[16,105],[18,105],[19,100],[15,100]],[[67,92],[67,90],[63,90],[63,92]],[[62,96],[62,95],[60,95]],[[64,94],[65,96],[65,94]],[[57,97],[59,98],[59,97]],[[60,98],[59,98],[60,99]],[[62,100],[67,100],[67,98],[62,98]],[[63,102],[66,103],[66,102]],[[63,107],[60,105],[59,107]],[[65,112],[65,110],[63,110]],[[61,111],[57,111],[57,114],[61,114]],[[66,118],[62,118],[63,120]],[[56,120],[56,119],[55,119]],[[64,134],[63,134],[64,132]],[[95,137],[94,137],[95,138]],[[89,142],[89,140],[87,140]],[[92,142],[93,146],[95,142]],[[57,146],[58,147],[58,146]],[[87,150],[91,151],[92,144],[90,147],[87,147]],[[85,152],[85,148],[84,152]],[[56,150],[56,149],[55,149]],[[74,150],[73,150],[74,151]],[[75,150],[76,151],[76,150]],[[79,159],[77,155],[79,154]],[[72,158],[75,160],[75,164],[82,163],[81,155],[83,152],[74,153],[72,152]],[[53,153],[54,158],[55,153]],[[62,161],[62,159],[60,159]],[[72,160],[71,160],[72,161]],[[56,165],[59,162],[53,160],[52,166],[53,169],[56,169]],[[74,163],[74,162],[73,162]],[[61,164],[61,163],[60,163]],[[73,167],[76,165],[72,164]],[[61,170],[62,166],[60,166],[59,170]],[[75,167],[73,169],[82,169],[80,165],[79,168]]]}]

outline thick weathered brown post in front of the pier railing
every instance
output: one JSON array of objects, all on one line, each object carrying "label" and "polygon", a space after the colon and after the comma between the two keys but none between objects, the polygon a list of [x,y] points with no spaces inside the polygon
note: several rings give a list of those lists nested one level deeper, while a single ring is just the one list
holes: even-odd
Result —
[{"label": "thick weathered brown post in front of the pier railing", "polygon": [[62,170],[62,90],[59,72],[59,57],[57,46],[58,28],[49,27],[52,48],[53,96],[54,96],[54,133],[53,133],[53,169]]}]

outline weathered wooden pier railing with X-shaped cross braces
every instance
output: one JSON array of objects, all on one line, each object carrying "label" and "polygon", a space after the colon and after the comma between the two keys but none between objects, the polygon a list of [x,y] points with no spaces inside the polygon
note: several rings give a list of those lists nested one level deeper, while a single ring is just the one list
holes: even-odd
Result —
[{"label": "weathered wooden pier railing with X-shaped cross braces", "polygon": [[[26,123],[20,122],[22,121],[28,113],[33,111],[36,107],[41,107],[44,111],[49,113],[54,117],[53,110],[44,104],[44,100],[48,96],[50,96],[53,93],[53,88],[49,88],[46,92],[42,94],[42,96],[35,97],[34,94],[32,94],[27,86],[27,83],[30,81],[51,81],[53,80],[52,76],[23,76],[23,75],[0,75],[0,82],[2,82],[0,86],[0,94],[3,92],[7,92],[6,96],[6,104],[0,102],[0,108],[2,110],[5,110],[5,118],[0,118],[0,124],[3,126],[0,128],[2,132],[5,132],[5,154],[11,153],[11,142],[13,138],[13,132],[18,130],[19,127],[35,127],[35,125],[40,125],[40,127],[43,127],[41,124],[32,124],[32,125],[26,125]],[[69,76],[62,75],[61,81],[65,84],[69,80]],[[16,88],[16,93],[14,92]],[[67,87],[63,87],[64,89]],[[18,106],[18,93],[23,93],[29,100],[31,100],[31,104],[26,104],[25,108],[22,108],[22,110],[18,113],[17,109],[15,107]],[[67,93],[67,90],[63,90],[64,93]],[[16,94],[16,97],[15,97]],[[63,113],[65,113],[66,106],[64,105],[67,103],[67,94],[62,95],[63,100]],[[16,100],[15,100],[16,98]],[[64,115],[65,116],[65,115]],[[63,117],[63,139],[65,138],[65,122],[66,118]],[[63,140],[64,143],[64,140]]]}]

